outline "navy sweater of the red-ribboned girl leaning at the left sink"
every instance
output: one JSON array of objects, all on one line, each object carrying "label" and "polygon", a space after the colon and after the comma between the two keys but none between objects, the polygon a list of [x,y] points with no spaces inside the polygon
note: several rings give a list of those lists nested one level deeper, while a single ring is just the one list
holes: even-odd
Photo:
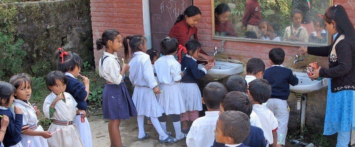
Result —
[{"label": "navy sweater of the red-ribboned girl leaning at the left sink", "polygon": [[206,73],[203,70],[198,69],[198,64],[195,60],[189,57],[182,57],[181,59],[181,71],[184,71],[184,76],[181,78],[183,83],[197,83]]}]

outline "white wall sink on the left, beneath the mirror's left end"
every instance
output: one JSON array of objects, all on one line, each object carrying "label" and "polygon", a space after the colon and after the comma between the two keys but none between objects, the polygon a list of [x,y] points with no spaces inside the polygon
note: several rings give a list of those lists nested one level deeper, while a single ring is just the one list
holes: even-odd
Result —
[{"label": "white wall sink on the left, beneath the mirror's left end", "polygon": [[[235,75],[243,72],[243,64],[229,63],[223,61],[215,61],[214,63],[214,67],[207,71],[207,75],[215,79],[221,79],[230,75]],[[198,65],[199,69],[203,67],[204,65],[202,64]]]}]

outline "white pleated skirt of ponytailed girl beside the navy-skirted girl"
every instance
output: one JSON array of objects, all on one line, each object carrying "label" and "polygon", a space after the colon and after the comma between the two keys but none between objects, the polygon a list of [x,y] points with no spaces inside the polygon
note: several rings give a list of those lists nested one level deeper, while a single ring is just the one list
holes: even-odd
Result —
[{"label": "white pleated skirt of ponytailed girl beside the navy-skirted girl", "polygon": [[138,115],[160,117],[164,113],[162,106],[160,106],[157,97],[152,91],[153,89],[148,87],[135,86],[132,100],[137,108]]}]

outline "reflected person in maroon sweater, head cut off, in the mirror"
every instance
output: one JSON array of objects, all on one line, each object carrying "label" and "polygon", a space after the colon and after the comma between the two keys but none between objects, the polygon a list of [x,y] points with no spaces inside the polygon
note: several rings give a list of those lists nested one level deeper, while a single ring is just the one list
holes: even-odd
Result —
[{"label": "reflected person in maroon sweater, head cut off, in the mirror", "polygon": [[245,4],[245,12],[242,18],[244,30],[254,31],[257,38],[260,37],[258,24],[261,20],[260,5],[258,0],[247,0]]}]

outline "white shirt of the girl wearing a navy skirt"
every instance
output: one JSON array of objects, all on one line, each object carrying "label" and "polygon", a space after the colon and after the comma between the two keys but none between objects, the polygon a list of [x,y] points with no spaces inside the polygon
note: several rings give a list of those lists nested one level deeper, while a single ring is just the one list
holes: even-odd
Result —
[{"label": "white shirt of the girl wearing a navy skirt", "polygon": [[105,58],[105,60],[102,63],[101,66],[101,60],[99,60],[99,75],[100,77],[105,78],[106,81],[109,81],[114,84],[120,84],[122,81],[122,75],[120,74],[121,72],[121,66],[120,66],[120,61],[117,57],[117,53],[110,54],[106,51],[104,51],[104,57],[108,56]]}]

